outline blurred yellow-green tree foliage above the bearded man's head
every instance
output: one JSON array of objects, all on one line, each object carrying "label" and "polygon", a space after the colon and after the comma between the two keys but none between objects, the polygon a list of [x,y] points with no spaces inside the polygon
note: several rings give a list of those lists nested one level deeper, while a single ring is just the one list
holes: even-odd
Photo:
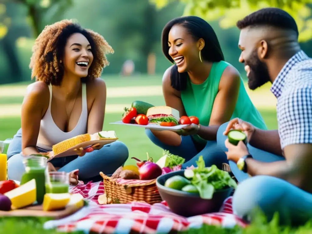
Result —
[{"label": "blurred yellow-green tree foliage above the bearded man's head", "polygon": [[234,27],[237,20],[264,7],[278,7],[294,17],[299,30],[299,41],[312,38],[310,3],[312,0],[150,0],[163,8],[170,2],[185,4],[183,15],[196,15],[207,21],[218,20],[220,27]]}]

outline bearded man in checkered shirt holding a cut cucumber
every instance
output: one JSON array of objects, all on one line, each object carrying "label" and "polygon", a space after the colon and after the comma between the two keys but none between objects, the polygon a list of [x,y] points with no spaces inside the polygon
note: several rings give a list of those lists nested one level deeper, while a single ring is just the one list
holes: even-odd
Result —
[{"label": "bearded man in checkered shirt holding a cut cucumber", "polygon": [[[296,22],[283,10],[264,8],[236,25],[249,88],[272,83],[278,130],[256,129],[241,119],[218,130],[218,144],[239,181],[233,211],[247,218],[260,207],[269,220],[279,212],[280,222],[302,224],[312,218],[312,59],[300,49]],[[231,129],[246,133],[247,146],[228,142]]]}]

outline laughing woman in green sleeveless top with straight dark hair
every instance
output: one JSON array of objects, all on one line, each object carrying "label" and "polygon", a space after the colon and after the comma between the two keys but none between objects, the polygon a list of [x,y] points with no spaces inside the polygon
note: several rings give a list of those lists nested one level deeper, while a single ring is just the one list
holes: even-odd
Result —
[{"label": "laughing woman in green sleeveless top with straight dark hair", "polygon": [[260,129],[266,125],[246,93],[239,72],[224,61],[212,27],[195,16],[178,17],[162,32],[163,53],[175,63],[163,75],[165,103],[180,116],[197,116],[181,132],[146,130],[152,142],[186,159],[183,168],[196,166],[200,155],[206,166],[222,167],[226,154],[217,146],[221,124],[240,118]]}]

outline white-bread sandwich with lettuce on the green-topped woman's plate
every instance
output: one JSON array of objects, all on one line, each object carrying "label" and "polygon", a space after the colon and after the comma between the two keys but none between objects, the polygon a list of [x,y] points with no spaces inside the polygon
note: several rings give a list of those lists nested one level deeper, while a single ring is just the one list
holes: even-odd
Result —
[{"label": "white-bread sandwich with lettuce on the green-topped woman's plate", "polygon": [[176,126],[180,119],[179,111],[169,106],[154,106],[147,110],[147,118],[150,124],[161,126]]}]

